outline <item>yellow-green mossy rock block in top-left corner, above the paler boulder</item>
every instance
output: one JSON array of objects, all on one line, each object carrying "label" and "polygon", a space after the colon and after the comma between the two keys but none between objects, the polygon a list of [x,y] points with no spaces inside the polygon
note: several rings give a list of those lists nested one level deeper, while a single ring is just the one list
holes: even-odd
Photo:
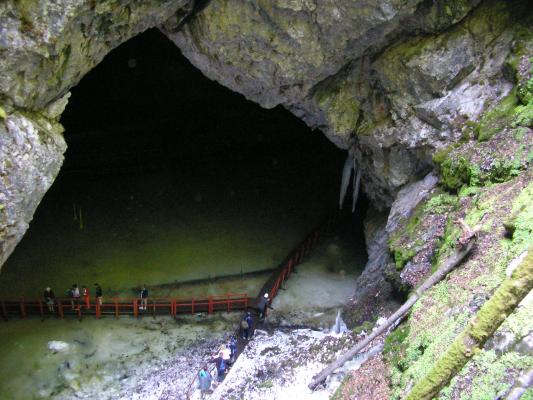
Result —
[{"label": "yellow-green mossy rock block in top-left corner, above the paler boulder", "polygon": [[0,98],[41,110],[120,43],[160,25],[189,0],[5,1],[0,4]]}]

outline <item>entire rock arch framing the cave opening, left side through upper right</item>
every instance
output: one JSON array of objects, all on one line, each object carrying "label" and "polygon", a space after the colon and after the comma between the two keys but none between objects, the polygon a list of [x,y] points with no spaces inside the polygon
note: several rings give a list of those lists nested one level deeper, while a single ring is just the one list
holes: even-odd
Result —
[{"label": "entire rock arch framing the cave opening, left side through upper right", "polygon": [[[509,93],[527,15],[524,2],[495,0],[9,0],[0,4],[0,109],[11,126],[3,135],[15,125],[28,132],[17,125],[22,114],[30,125],[42,126],[35,115],[56,124],[69,88],[105,54],[160,26],[211,79],[354,146],[363,189],[386,208],[433,168],[435,149]],[[8,142],[3,153],[27,153]],[[47,166],[61,164],[64,144],[54,143],[39,157],[1,160],[5,249],[57,174]],[[17,179],[24,168],[42,171],[45,184]]]}]

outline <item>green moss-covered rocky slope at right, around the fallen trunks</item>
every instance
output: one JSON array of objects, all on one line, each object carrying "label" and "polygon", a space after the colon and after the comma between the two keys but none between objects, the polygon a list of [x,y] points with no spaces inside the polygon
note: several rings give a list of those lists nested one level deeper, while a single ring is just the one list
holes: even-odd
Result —
[{"label": "green moss-covered rocky slope at right, around the fallen trunks", "polygon": [[[453,249],[461,234],[453,224],[454,219],[461,217],[472,227],[479,225],[481,234],[478,249],[465,264],[452,272],[447,281],[427,291],[413,307],[402,331],[389,340],[394,344],[387,347],[387,360],[392,368],[392,398],[403,398],[407,394],[405,388],[425,376],[438,356],[453,343],[471,316],[505,279],[511,260],[533,243],[532,190],[532,172],[523,171],[507,182],[478,187],[476,191],[465,191],[456,197],[435,194],[425,202],[424,211],[416,215],[415,226],[423,226],[424,222],[420,221],[429,220],[431,215],[428,204],[440,206],[443,200],[453,204],[444,211],[448,220],[445,234],[434,244],[436,264]],[[512,235],[506,234],[503,226],[502,221],[506,218],[506,224],[512,226]],[[403,226],[406,225],[408,222]],[[501,329],[513,332],[519,341],[531,331],[527,315],[532,312],[533,302],[519,306]],[[396,336],[401,340],[396,340]],[[492,348],[480,351],[438,398],[474,400],[501,394],[532,362],[530,356],[520,355],[514,349],[511,346],[505,354]]]}]

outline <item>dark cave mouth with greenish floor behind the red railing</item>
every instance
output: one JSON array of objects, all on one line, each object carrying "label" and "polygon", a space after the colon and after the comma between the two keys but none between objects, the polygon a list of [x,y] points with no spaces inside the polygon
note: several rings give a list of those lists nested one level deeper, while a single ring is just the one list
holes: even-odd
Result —
[{"label": "dark cave mouth with greenish floor behind the red railing", "polygon": [[[338,201],[344,151],[205,78],[157,29],[87,74],[61,122],[65,162],[3,268],[7,295],[95,281],[195,295],[182,282],[257,273],[201,288],[253,292]],[[328,270],[364,265],[364,203],[323,251]]]}]

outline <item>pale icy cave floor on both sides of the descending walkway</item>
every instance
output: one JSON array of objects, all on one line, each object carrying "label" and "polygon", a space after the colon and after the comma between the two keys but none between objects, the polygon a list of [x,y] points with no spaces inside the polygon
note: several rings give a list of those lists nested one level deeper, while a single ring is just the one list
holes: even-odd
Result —
[{"label": "pale icy cave floor on both sides of the descending walkway", "polygon": [[[335,239],[298,267],[267,319],[271,327],[303,325],[315,330],[258,331],[210,397],[224,398],[242,388],[236,398],[328,398],[335,380],[314,394],[306,385],[326,365],[324,356],[314,353],[325,347],[321,341],[330,340],[337,310],[353,294],[356,278],[351,255],[335,254],[336,268],[330,267],[332,249],[338,250]],[[185,399],[191,380],[215,356],[239,318],[217,314],[183,317],[177,323],[170,318],[2,323],[0,398]],[[66,343],[67,348],[50,350],[50,341]],[[199,394],[195,387],[192,393]]]}]

